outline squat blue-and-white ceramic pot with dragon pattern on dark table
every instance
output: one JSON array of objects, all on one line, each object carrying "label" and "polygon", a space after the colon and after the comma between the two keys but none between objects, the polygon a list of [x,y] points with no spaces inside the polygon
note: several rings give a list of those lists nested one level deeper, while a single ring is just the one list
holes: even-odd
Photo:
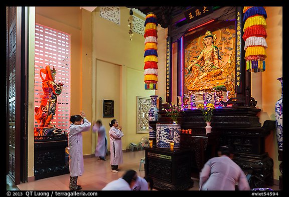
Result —
[{"label": "squat blue-and-white ceramic pot with dragon pattern on dark table", "polygon": [[180,148],[180,124],[157,124],[157,147],[171,148],[170,142],[174,141],[174,148]]}]

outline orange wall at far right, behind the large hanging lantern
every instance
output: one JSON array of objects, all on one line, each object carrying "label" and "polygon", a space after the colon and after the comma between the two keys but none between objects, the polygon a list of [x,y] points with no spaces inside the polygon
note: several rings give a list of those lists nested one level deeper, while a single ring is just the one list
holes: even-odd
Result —
[{"label": "orange wall at far right, behind the large hanging lantern", "polygon": [[[264,7],[267,13],[267,38],[268,48],[265,50],[267,58],[266,70],[262,73],[251,74],[252,97],[257,100],[257,108],[261,109],[258,114],[260,122],[275,120],[275,103],[281,97],[281,84],[277,78],[282,77],[282,7]],[[262,88],[260,88],[262,87]],[[280,161],[278,161],[278,147],[275,130],[265,140],[266,152],[274,160],[274,179],[279,179]]]}]

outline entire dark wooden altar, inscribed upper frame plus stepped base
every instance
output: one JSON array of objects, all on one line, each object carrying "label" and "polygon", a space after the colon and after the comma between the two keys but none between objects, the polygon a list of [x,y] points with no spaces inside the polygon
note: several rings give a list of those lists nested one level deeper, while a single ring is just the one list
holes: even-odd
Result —
[{"label": "entire dark wooden altar, inscribed upper frame plus stepped base", "polygon": [[[226,13],[226,15],[223,15],[223,13]],[[192,171],[196,172],[196,177],[198,178],[199,171],[204,163],[209,158],[217,156],[215,148],[218,145],[232,145],[235,153],[233,160],[241,166],[244,171],[248,171],[252,175],[251,188],[259,188],[273,184],[273,160],[268,156],[268,153],[265,152],[265,137],[275,128],[275,122],[266,120],[263,126],[261,126],[257,116],[257,113],[261,110],[255,107],[256,101],[251,97],[251,75],[250,72],[246,72],[244,66],[242,19],[243,7],[222,7],[213,14],[199,19],[196,22],[186,24],[181,28],[173,29],[172,24],[169,25],[168,37],[170,37],[170,41],[178,42],[177,96],[183,96],[185,69],[184,34],[212,20],[235,20],[235,44],[237,46],[235,62],[236,69],[238,69],[238,72],[240,71],[240,78],[238,81],[236,80],[239,86],[235,88],[235,97],[225,102],[223,108],[215,110],[212,120],[213,128],[209,135],[206,135],[205,122],[200,110],[187,110],[186,113],[179,118],[180,120],[178,122],[182,125],[181,129],[192,129],[192,135],[187,136],[187,134],[181,133],[181,148],[192,149],[193,163],[196,164],[192,166]],[[169,67],[169,69],[172,68]],[[169,71],[172,73],[171,70]],[[172,90],[169,88],[166,89],[166,92],[170,93],[170,98],[170,96],[172,96]],[[160,98],[160,118],[157,124],[166,124],[169,121],[169,117],[166,116],[162,108],[165,108],[167,104],[162,103],[161,100]],[[170,102],[168,96],[166,101]],[[228,104],[231,106],[229,107]],[[184,140],[182,141],[182,139]],[[214,143],[211,143],[213,146],[208,147],[210,141],[214,141]],[[200,151],[196,151],[198,147]],[[201,151],[200,147],[203,147],[204,150]],[[208,151],[208,149],[210,149],[210,151]],[[258,163],[260,165],[257,165]]]}]

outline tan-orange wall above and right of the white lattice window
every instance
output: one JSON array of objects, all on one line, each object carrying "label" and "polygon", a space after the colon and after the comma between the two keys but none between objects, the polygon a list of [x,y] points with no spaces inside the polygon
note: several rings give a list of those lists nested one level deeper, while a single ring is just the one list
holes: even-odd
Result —
[{"label": "tan-orange wall above and right of the white lattice window", "polygon": [[[79,7],[36,7],[35,10],[36,23],[71,35],[70,113],[84,110],[91,120],[91,13]],[[83,133],[83,144],[83,154],[91,154],[91,130]]]}]

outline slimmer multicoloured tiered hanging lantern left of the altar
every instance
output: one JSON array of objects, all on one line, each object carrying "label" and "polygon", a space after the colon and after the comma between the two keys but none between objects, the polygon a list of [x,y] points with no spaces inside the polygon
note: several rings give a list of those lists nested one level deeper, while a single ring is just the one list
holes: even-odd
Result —
[{"label": "slimmer multicoloured tiered hanging lantern left of the altar", "polygon": [[158,22],[154,13],[148,13],[145,21],[145,89],[158,89]]}]

